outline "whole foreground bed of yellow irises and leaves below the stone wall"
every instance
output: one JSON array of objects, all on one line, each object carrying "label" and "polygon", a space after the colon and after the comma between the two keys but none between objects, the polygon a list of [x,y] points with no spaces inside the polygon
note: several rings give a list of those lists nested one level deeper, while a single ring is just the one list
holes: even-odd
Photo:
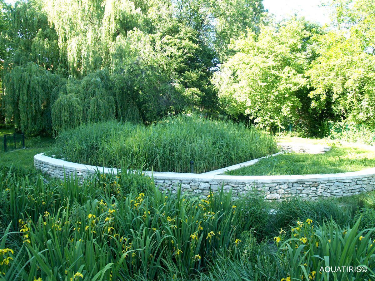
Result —
[{"label": "whole foreground bed of yellow irises and leaves below the stone wall", "polygon": [[[362,228],[361,210],[354,214],[349,202],[270,204],[262,194],[233,200],[223,191],[201,199],[153,186],[140,171],[98,173],[79,184],[74,177],[45,182],[41,175],[0,170],[0,275],[76,281],[375,278],[375,229]],[[374,204],[369,196],[367,208]],[[359,265],[367,272],[319,273],[321,266]]]}]

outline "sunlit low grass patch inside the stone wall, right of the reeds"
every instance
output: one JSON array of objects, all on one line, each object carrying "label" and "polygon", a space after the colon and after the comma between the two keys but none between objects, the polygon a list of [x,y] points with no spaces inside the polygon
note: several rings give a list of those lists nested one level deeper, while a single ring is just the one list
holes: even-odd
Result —
[{"label": "sunlit low grass patch inside the stone wall, right of the reeds", "polygon": [[226,175],[307,175],[354,172],[375,167],[375,148],[341,144],[324,154],[288,153],[264,158]]}]

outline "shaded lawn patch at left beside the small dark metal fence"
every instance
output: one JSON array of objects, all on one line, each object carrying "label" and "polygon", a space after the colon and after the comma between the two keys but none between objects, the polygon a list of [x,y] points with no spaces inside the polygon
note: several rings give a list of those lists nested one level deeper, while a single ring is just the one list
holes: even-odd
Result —
[{"label": "shaded lawn patch at left beside the small dark metal fence", "polygon": [[3,149],[1,149],[0,164],[1,166],[17,166],[18,168],[24,168],[26,170],[33,170],[34,155],[45,152],[53,142],[54,141],[51,137],[26,136],[25,149],[8,152],[4,152]]}]

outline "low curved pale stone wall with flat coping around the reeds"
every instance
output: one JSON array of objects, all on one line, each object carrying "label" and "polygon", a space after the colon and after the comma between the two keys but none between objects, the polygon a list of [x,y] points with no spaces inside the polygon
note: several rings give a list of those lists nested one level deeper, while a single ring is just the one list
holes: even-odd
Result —
[{"label": "low curved pale stone wall with flat coping around the reeds", "polygon": [[[292,150],[297,149],[297,146],[292,145],[291,147],[293,147],[291,148]],[[311,151],[321,153],[317,151],[322,151],[322,149],[326,151],[324,149],[329,149],[329,147],[305,147],[304,150],[306,153],[311,153]],[[284,150],[289,151],[289,148]],[[144,171],[144,173],[145,175],[153,175],[155,185],[159,187],[160,190],[177,192],[178,187],[181,186],[183,192],[208,195],[210,190],[214,192],[223,187],[224,190],[232,190],[233,196],[235,197],[241,197],[249,191],[256,190],[264,193],[268,200],[281,200],[288,196],[299,196],[304,199],[316,200],[318,198],[359,194],[374,189],[375,167],[358,172],[323,175],[221,175],[225,170],[248,166],[256,163],[258,160],[259,159],[255,159],[201,174],[170,172],[151,173],[148,171]],[[56,178],[64,178],[64,175],[74,173],[77,174],[78,178],[83,180],[98,171],[101,173],[117,173],[117,170],[110,168],[72,163],[44,156],[43,153],[34,156],[34,165],[36,169],[42,170],[43,173]]]}]

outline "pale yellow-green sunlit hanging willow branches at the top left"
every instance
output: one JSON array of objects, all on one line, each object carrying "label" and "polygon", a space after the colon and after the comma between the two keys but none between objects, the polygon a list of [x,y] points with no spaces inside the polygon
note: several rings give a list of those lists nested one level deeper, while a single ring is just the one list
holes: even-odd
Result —
[{"label": "pale yellow-green sunlit hanging willow branches at the top left", "polygon": [[109,67],[116,37],[142,28],[145,21],[127,0],[45,0],[43,10],[56,30],[68,73],[76,77]]}]

